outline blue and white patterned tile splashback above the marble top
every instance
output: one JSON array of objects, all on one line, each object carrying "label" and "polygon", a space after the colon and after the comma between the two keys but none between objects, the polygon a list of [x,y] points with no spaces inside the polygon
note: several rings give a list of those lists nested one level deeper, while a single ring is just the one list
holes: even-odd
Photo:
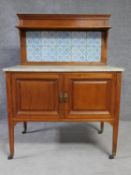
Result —
[{"label": "blue and white patterned tile splashback above the marble top", "polygon": [[100,62],[101,32],[28,31],[26,47],[31,62]]}]

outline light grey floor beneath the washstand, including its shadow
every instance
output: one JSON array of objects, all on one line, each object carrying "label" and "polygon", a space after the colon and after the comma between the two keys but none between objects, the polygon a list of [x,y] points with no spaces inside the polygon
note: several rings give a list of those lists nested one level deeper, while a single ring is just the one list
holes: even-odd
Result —
[{"label": "light grey floor beneath the washstand, including its shadow", "polygon": [[120,122],[118,151],[112,128],[99,123],[29,123],[15,128],[15,156],[8,160],[7,121],[0,121],[0,175],[131,175],[131,122]]}]

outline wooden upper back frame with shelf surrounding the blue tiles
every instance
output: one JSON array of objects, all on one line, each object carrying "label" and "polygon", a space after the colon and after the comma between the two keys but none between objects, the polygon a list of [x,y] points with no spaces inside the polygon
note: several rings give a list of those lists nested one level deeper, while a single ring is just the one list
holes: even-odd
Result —
[{"label": "wooden upper back frame with shelf surrounding the blue tiles", "polygon": [[[110,15],[42,15],[18,14],[20,30],[21,64],[27,65],[105,65],[107,63],[107,43]],[[26,54],[26,31],[70,30],[102,32],[100,62],[31,62]]]}]

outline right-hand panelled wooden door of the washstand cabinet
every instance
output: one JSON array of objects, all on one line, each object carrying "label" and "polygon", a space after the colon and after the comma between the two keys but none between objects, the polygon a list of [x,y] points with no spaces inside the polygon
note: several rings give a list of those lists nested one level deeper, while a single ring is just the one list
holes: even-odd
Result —
[{"label": "right-hand panelled wooden door of the washstand cabinet", "polygon": [[112,117],[114,82],[111,73],[67,74],[65,118]]}]

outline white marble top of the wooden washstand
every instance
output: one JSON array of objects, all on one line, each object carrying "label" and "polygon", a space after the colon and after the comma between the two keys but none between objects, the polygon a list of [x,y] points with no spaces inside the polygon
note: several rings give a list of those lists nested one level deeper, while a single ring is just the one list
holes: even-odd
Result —
[{"label": "white marble top of the wooden washstand", "polygon": [[5,72],[122,72],[121,67],[112,66],[32,66],[32,65],[17,65],[4,68]]}]

